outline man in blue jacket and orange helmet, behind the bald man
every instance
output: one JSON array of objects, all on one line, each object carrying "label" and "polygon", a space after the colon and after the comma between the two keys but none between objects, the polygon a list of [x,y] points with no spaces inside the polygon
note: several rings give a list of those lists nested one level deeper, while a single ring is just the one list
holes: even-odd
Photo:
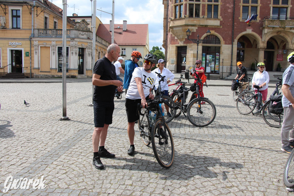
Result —
[{"label": "man in blue jacket and orange helmet, behind the bald man", "polygon": [[137,62],[142,59],[142,55],[138,51],[133,51],[131,55],[131,59],[125,61],[125,75],[123,79],[123,88],[125,89],[125,92],[127,94],[128,87],[130,85],[133,71],[136,67],[139,67]]}]

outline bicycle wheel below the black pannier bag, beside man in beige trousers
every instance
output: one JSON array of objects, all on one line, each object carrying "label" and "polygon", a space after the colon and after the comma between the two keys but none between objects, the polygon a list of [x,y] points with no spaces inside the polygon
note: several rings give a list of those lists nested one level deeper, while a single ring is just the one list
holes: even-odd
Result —
[{"label": "bicycle wheel below the black pannier bag, beside man in beige trousers", "polygon": [[263,107],[263,110],[262,110],[263,120],[265,121],[266,124],[270,125],[271,127],[275,127],[275,128],[282,127],[284,113],[282,114],[270,113],[268,109],[269,104],[270,104],[270,100],[265,102],[265,106]]}]

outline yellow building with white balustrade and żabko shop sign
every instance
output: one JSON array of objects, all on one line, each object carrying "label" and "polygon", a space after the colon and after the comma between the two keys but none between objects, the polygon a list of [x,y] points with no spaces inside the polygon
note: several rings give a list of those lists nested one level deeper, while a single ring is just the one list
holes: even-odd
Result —
[{"label": "yellow building with white balustrade and \u017cabko shop sign", "polygon": [[[46,0],[0,4],[0,76],[62,77],[62,9]],[[92,77],[88,25],[86,20],[67,19],[67,77]],[[96,36],[95,45],[96,61],[109,43]]]}]

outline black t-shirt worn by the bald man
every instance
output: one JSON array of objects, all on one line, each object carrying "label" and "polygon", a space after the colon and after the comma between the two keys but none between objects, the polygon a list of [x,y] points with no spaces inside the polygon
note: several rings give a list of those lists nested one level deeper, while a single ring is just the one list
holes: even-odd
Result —
[{"label": "black t-shirt worn by the bald man", "polygon": [[[116,80],[115,66],[106,58],[99,59],[94,66],[94,74],[100,75],[101,80]],[[95,86],[93,100],[111,101],[114,99],[116,86]]]}]

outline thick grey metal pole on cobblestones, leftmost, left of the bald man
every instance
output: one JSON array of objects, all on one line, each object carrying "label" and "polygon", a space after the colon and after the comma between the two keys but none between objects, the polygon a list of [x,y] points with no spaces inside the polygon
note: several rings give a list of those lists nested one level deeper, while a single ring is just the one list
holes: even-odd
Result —
[{"label": "thick grey metal pole on cobblestones, leftmost, left of the bald man", "polygon": [[62,13],[62,118],[60,120],[69,120],[66,116],[66,9],[67,0],[63,0]]}]

